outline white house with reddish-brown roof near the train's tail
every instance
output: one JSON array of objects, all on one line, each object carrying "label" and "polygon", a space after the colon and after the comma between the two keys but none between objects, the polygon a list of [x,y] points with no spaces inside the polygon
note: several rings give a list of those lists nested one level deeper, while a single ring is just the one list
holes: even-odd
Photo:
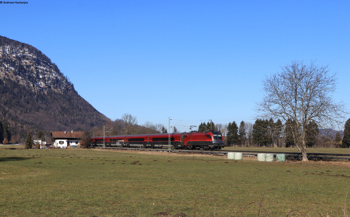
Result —
[{"label": "white house with reddish-brown roof near the train's tail", "polygon": [[76,131],[52,131],[52,144],[57,148],[69,148],[80,145],[84,132]]}]

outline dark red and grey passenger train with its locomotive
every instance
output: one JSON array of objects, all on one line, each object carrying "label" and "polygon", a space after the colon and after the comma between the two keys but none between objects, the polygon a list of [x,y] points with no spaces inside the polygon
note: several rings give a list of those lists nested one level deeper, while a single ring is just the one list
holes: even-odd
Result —
[{"label": "dark red and grey passenger train with its locomotive", "polygon": [[[103,146],[103,136],[92,137],[90,142],[93,146]],[[105,136],[105,146],[168,148],[169,134]],[[205,133],[171,133],[170,147],[175,149],[220,150],[225,145],[220,132],[210,131]]]}]

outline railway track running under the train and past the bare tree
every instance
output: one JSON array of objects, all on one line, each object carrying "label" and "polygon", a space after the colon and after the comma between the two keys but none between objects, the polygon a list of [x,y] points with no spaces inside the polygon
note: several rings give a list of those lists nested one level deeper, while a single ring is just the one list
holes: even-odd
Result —
[{"label": "railway track running under the train and past the bare tree", "polygon": [[[197,154],[208,154],[208,155],[227,155],[228,152],[241,152],[243,156],[257,156],[259,153],[270,153],[276,156],[276,154],[285,154],[287,159],[301,160],[302,156],[296,152],[279,152],[279,151],[241,151],[241,150],[179,150],[179,149],[150,149],[150,148],[122,148],[122,147],[94,147],[100,149],[119,149],[119,150],[138,150],[138,151],[163,151],[173,153],[197,153]],[[329,153],[308,153],[309,160],[349,160],[350,154],[329,154]]]}]

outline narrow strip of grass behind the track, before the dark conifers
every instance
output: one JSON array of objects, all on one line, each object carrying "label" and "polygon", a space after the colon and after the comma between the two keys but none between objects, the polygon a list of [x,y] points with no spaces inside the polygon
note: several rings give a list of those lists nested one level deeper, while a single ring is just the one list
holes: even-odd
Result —
[{"label": "narrow strip of grass behind the track, before the dark conifers", "polygon": [[[225,147],[222,150],[297,152],[297,148]],[[350,154],[350,148],[307,148],[308,153]]]}]

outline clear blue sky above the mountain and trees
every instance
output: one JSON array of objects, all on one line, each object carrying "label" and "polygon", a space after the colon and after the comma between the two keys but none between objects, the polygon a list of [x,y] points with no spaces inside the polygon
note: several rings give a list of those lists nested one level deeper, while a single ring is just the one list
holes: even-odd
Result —
[{"label": "clear blue sky above the mountain and trees", "polygon": [[111,119],[254,122],[261,81],[294,59],[329,65],[334,99],[350,101],[348,1],[27,1],[0,4],[0,35],[41,50]]}]

